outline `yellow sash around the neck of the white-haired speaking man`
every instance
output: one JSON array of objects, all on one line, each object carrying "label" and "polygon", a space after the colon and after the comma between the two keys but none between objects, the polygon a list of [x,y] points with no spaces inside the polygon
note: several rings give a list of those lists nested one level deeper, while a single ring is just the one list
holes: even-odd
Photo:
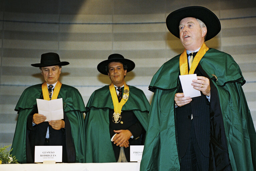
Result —
[{"label": "yellow sash around the neck of the white-haired speaking man", "polygon": [[206,46],[205,43],[203,43],[199,51],[196,53],[188,73],[187,51],[185,49],[183,53],[180,55],[180,75],[193,74],[199,61],[201,60],[201,58],[203,57],[207,50],[209,50],[209,48]]}]

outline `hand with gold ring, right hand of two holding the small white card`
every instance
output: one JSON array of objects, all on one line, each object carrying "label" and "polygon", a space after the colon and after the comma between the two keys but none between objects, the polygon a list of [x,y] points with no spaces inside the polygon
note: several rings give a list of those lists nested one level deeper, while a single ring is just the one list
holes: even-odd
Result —
[{"label": "hand with gold ring, right hand of two holding the small white card", "polygon": [[192,82],[193,83],[191,83],[191,85],[193,85],[194,89],[201,91],[202,94],[205,96],[208,96],[208,97],[210,96],[211,89],[210,89],[210,81],[208,78],[204,76],[197,76],[197,79],[193,79]]}]

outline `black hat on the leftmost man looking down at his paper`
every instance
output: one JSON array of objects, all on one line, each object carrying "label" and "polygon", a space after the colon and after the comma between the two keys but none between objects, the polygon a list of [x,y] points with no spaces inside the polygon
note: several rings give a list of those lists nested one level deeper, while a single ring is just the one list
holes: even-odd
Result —
[{"label": "black hat on the leftmost man looking down at his paper", "polygon": [[41,61],[40,63],[33,63],[32,66],[35,67],[45,67],[45,66],[54,66],[54,65],[68,65],[69,62],[60,61],[60,56],[57,53],[49,52],[41,54]]}]

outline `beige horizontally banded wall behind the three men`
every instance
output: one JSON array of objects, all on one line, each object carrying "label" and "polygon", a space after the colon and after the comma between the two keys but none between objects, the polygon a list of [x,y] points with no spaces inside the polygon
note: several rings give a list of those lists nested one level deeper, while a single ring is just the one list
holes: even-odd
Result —
[{"label": "beige horizontally banded wall behind the three men", "polygon": [[165,25],[173,10],[201,5],[212,10],[221,32],[206,42],[231,54],[246,84],[243,86],[256,125],[256,1],[254,0],[1,0],[0,1],[0,144],[11,144],[19,96],[41,83],[41,53],[57,52],[63,66],[61,81],[76,87],[84,103],[92,92],[109,84],[97,64],[111,53],[136,63],[126,83],[142,89],[149,101],[148,85],[158,68],[183,51],[178,38]]}]

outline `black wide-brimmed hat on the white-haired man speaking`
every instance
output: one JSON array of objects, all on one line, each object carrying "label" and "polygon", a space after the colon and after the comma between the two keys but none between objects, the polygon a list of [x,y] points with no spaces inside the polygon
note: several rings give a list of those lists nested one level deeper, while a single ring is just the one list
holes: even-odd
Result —
[{"label": "black wide-brimmed hat on the white-haired man speaking", "polygon": [[189,6],[171,12],[166,18],[168,30],[180,38],[179,24],[183,18],[193,17],[201,20],[207,27],[205,41],[215,37],[221,31],[221,23],[218,17],[209,9],[201,6]]}]

